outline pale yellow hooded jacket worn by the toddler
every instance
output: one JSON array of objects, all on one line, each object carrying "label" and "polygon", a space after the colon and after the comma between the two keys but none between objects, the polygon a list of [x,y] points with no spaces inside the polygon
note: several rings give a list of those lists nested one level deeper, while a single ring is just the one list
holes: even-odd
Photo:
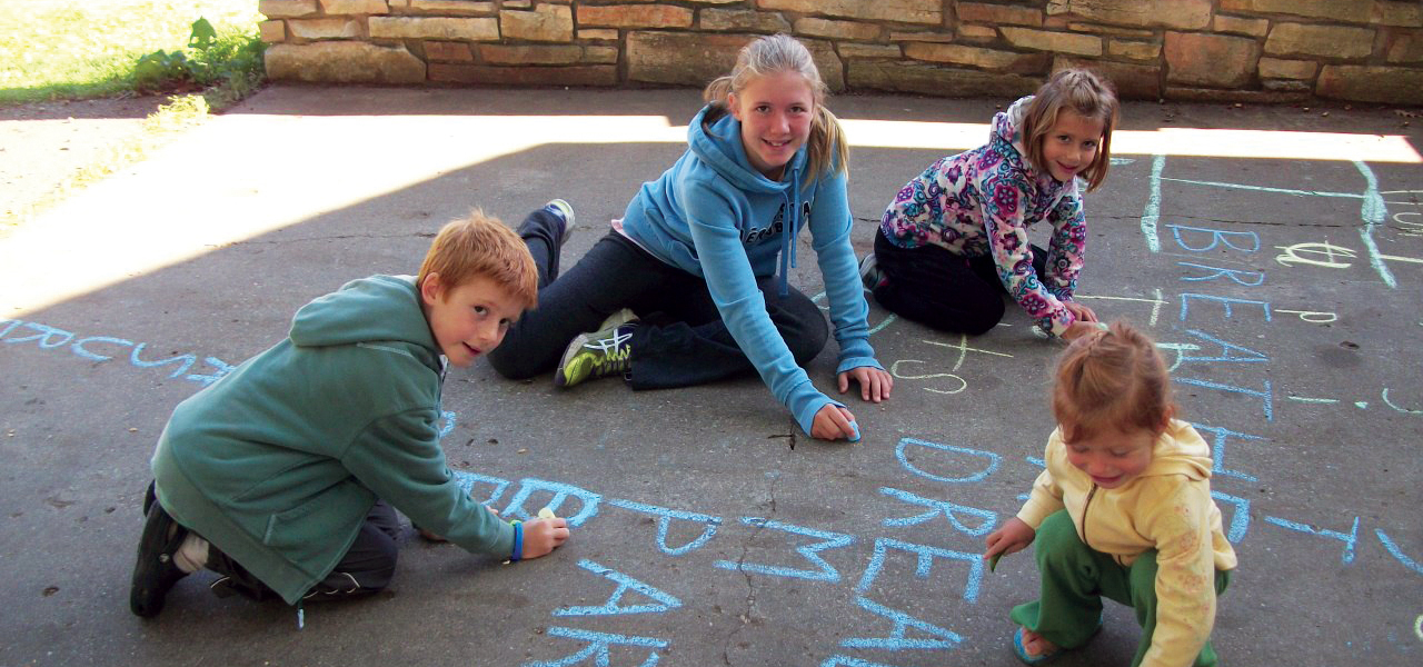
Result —
[{"label": "pale yellow hooded jacket worn by the toddler", "polygon": [[1037,530],[1066,508],[1083,543],[1123,566],[1155,549],[1157,626],[1141,667],[1191,664],[1215,624],[1215,570],[1237,563],[1211,499],[1210,445],[1171,420],[1147,469],[1116,489],[1099,488],[1067,461],[1060,427],[1043,458],[1047,466],[1017,518]]}]

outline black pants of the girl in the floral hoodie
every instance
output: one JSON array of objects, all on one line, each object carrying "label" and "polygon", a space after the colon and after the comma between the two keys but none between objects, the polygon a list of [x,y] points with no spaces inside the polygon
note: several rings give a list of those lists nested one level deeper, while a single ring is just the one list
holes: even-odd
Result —
[{"label": "black pants of the girl in the floral hoodie", "polygon": [[[1039,280],[1047,252],[1033,247]],[[891,313],[949,333],[978,336],[1003,319],[1003,282],[993,257],[962,257],[935,245],[904,249],[875,233],[875,265],[888,280],[874,296]]]}]

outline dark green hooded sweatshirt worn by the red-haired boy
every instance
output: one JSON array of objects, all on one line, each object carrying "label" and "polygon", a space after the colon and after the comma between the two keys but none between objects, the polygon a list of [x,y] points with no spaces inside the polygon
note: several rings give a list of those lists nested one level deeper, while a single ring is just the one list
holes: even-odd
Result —
[{"label": "dark green hooded sweatshirt worn by the red-haired boy", "polygon": [[443,368],[413,277],[353,280],[174,410],[152,461],[159,502],[289,604],[336,567],[376,498],[507,556],[512,526],[445,465]]}]

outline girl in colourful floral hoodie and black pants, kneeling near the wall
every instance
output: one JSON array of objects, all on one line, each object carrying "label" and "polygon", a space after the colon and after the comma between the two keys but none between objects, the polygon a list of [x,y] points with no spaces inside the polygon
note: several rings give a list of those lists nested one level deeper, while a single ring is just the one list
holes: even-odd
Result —
[{"label": "girl in colourful floral hoodie and black pants, kneeling near the wall", "polygon": [[[1053,74],[993,117],[988,144],[929,165],[885,210],[865,289],[892,313],[978,336],[1003,317],[1003,292],[1049,334],[1076,338],[1097,316],[1073,300],[1087,245],[1077,178],[1111,165],[1117,97],[1086,70]],[[1044,252],[1027,230],[1046,222]]]}]

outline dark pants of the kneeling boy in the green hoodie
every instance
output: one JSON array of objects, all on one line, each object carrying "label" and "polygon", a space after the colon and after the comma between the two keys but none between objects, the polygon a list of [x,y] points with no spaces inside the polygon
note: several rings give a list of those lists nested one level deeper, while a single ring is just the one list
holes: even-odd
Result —
[{"label": "dark pants of the kneeling boy in the green hoodie", "polygon": [[[400,532],[396,509],[386,501],[376,501],[346,556],[336,563],[336,569],[326,575],[326,579],[312,586],[305,600],[333,600],[383,590],[396,575]],[[218,549],[218,545],[208,548],[205,567],[222,575],[222,579],[212,585],[212,590],[219,596],[239,593],[253,600],[277,597],[276,592],[248,572],[242,563]]]}]

